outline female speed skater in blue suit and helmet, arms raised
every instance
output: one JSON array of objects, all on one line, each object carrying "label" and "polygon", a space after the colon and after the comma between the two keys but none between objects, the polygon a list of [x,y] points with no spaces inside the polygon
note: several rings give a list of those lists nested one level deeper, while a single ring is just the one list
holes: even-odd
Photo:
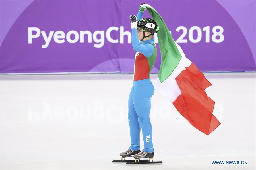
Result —
[{"label": "female speed skater in blue suit and helmet, arms raised", "polygon": [[[155,89],[150,80],[150,72],[154,67],[157,52],[155,39],[152,37],[158,32],[159,27],[153,19],[142,18],[145,9],[140,7],[137,17],[135,15],[129,17],[131,19],[132,46],[137,52],[135,54],[133,86],[128,99],[131,146],[127,151],[120,153],[122,158],[133,155],[135,159],[153,159],[154,156],[149,112],[150,100]],[[140,150],[141,129],[144,141],[142,151]]]}]

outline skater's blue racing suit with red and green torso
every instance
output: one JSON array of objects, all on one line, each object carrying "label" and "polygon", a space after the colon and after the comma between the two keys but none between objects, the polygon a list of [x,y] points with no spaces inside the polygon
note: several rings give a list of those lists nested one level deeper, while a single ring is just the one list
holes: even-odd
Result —
[{"label": "skater's blue racing suit with red and green torso", "polygon": [[[138,12],[137,20],[143,16]],[[142,129],[145,152],[154,152],[152,143],[152,126],[149,119],[151,97],[154,86],[150,80],[150,72],[156,60],[156,45],[154,39],[139,43],[137,29],[132,29],[132,45],[136,52],[133,86],[128,99],[128,122],[130,126],[131,150],[140,150],[140,132]]]}]

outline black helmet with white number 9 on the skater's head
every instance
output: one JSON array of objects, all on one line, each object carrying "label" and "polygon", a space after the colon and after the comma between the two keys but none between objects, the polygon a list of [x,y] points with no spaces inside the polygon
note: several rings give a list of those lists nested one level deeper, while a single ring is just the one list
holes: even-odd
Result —
[{"label": "black helmet with white number 9 on the skater's head", "polygon": [[159,27],[157,23],[151,18],[142,18],[138,21],[137,27],[141,27],[144,31],[148,31],[151,34],[157,33]]}]

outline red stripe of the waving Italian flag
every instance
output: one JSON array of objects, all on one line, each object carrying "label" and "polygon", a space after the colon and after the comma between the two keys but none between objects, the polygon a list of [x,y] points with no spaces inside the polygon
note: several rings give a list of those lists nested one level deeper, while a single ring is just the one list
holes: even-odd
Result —
[{"label": "red stripe of the waving Italian flag", "polygon": [[220,125],[212,114],[215,102],[205,92],[212,84],[194,63],[185,68],[175,78],[181,95],[173,105],[195,128],[209,135]]}]

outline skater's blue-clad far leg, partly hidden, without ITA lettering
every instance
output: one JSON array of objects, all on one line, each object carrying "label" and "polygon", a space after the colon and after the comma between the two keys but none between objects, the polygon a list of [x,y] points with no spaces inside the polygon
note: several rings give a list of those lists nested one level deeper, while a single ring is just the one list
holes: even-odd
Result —
[{"label": "skater's blue-clad far leg, partly hidden, without ITA lettering", "polygon": [[131,92],[128,100],[128,122],[130,126],[130,136],[131,136],[131,150],[140,150],[140,132],[141,127],[138,121],[138,115],[134,109],[133,105],[133,93],[134,87],[131,88]]}]

